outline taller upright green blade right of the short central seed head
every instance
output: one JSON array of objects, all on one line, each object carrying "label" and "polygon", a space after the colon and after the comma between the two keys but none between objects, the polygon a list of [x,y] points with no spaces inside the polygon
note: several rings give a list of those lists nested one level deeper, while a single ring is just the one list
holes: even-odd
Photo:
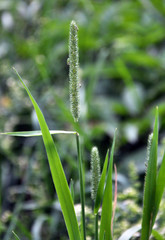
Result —
[{"label": "taller upright green blade right of the short central seed head", "polygon": [[101,224],[100,224],[100,235],[99,240],[102,240],[105,233],[105,240],[112,240],[112,232],[111,232],[111,220],[112,220],[112,168],[113,168],[113,155],[115,148],[115,139],[116,139],[116,131],[112,143],[111,155],[110,155],[110,163],[108,167],[107,181],[103,196],[103,204],[102,204],[102,214],[101,214]]}]

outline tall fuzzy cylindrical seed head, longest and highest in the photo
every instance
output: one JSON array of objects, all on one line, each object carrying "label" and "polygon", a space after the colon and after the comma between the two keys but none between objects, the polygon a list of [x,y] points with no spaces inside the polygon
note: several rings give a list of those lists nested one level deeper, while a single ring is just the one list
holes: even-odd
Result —
[{"label": "tall fuzzy cylindrical seed head, longest and highest in the photo", "polygon": [[69,92],[70,108],[75,122],[80,117],[79,96],[79,52],[78,52],[78,27],[75,21],[70,24],[69,34]]}]

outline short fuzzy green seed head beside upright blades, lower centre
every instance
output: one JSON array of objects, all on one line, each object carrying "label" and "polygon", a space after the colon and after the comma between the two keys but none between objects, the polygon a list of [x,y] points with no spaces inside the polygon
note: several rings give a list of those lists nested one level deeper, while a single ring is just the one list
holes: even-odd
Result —
[{"label": "short fuzzy green seed head beside upright blades, lower centre", "polygon": [[100,180],[100,158],[97,147],[91,151],[91,198],[96,200],[98,184]]}]

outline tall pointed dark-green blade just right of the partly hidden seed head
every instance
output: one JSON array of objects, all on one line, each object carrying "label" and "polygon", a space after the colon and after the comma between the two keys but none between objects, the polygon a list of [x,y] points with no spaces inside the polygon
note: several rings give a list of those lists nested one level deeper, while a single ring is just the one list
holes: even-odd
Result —
[{"label": "tall pointed dark-green blade just right of the partly hidden seed head", "polygon": [[152,231],[153,211],[156,196],[157,178],[157,147],[158,147],[158,107],[156,108],[155,125],[151,148],[148,152],[148,166],[145,177],[143,217],[141,240],[148,240]]}]

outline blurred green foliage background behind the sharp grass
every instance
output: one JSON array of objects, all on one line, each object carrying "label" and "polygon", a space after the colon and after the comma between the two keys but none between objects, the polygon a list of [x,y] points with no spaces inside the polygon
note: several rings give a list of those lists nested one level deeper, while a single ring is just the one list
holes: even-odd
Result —
[{"label": "blurred green foliage background behind the sharp grass", "polygon": [[[79,27],[80,126],[69,109],[69,24]],[[118,128],[115,237],[142,214],[146,145],[159,106],[159,159],[165,132],[165,2],[157,0],[1,0],[0,132],[39,129],[14,66],[39,103],[50,129],[74,130],[83,146],[88,235],[93,234],[90,151],[101,166]],[[74,136],[54,137],[79,215]],[[0,137],[0,238],[68,239],[41,137]],[[165,234],[165,202],[156,227]],[[93,239],[88,238],[88,239]],[[138,239],[138,234],[136,238]]]}]

